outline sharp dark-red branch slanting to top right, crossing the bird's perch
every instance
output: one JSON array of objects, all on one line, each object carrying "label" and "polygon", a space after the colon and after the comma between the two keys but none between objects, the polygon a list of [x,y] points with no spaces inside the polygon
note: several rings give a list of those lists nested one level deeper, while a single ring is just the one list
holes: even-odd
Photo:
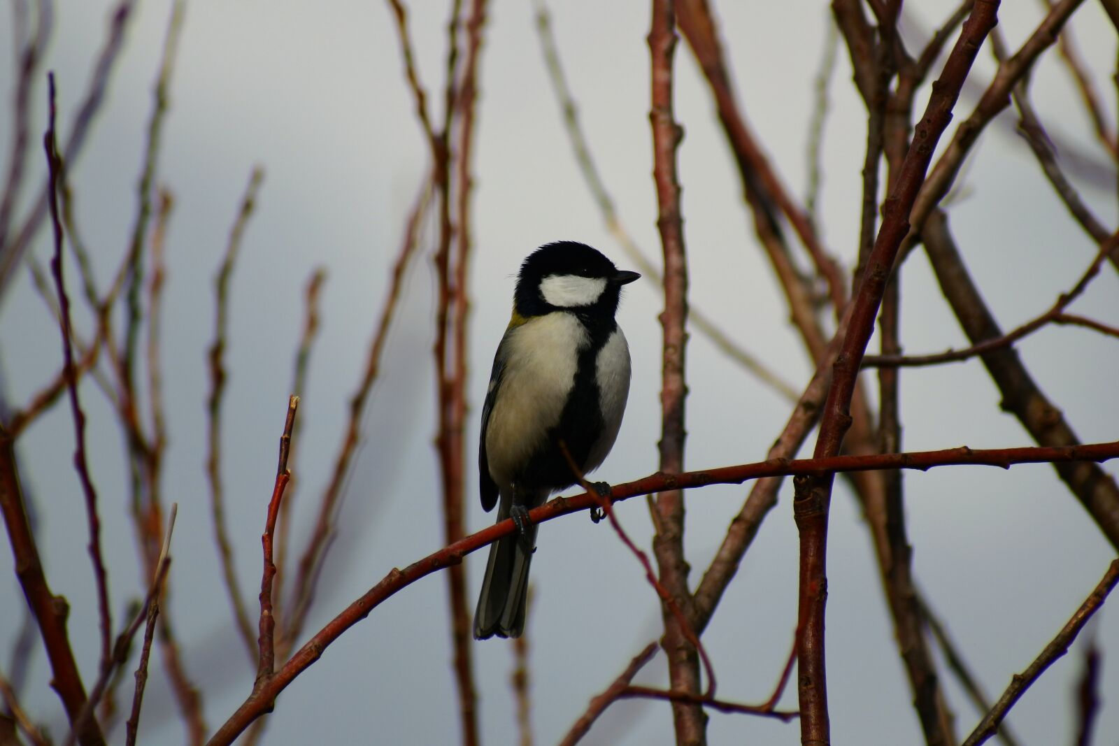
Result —
[{"label": "sharp dark-red branch slanting to top right, crossing the bird's perch", "polygon": [[[910,229],[909,215],[916,199],[940,135],[952,119],[952,107],[963,87],[984,39],[997,22],[998,0],[977,0],[960,31],[924,115],[913,133],[913,144],[897,171],[890,197],[883,205],[883,220],[854,301],[850,325],[836,359],[835,376],[824,407],[816,442],[817,457],[839,453],[850,427],[852,396],[866,343],[874,331],[886,281],[897,251]],[[793,513],[800,531],[800,649],[798,651],[799,699],[802,743],[830,742],[827,680],[824,663],[824,612],[827,602],[827,527],[833,475],[800,480]]]}]

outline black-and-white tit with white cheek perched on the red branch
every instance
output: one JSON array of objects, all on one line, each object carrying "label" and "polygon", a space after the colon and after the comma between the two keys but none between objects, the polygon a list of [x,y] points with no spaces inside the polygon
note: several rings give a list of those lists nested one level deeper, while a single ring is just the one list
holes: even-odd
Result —
[{"label": "black-and-white tit with white cheek perched on the red branch", "polygon": [[520,265],[478,447],[482,508],[499,504],[497,521],[513,518],[518,531],[490,546],[478,640],[521,635],[536,540],[528,511],[582,481],[613,447],[630,385],[614,313],[622,285],[640,276],[573,240],[540,246]]}]

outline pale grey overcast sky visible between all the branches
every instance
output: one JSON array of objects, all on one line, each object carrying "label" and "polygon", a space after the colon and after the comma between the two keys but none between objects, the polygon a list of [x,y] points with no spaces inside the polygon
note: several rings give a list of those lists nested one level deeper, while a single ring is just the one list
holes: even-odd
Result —
[{"label": "pale grey overcast sky visible between all the branches", "polygon": [[[413,4],[411,28],[421,75],[441,116],[445,9],[443,3]],[[623,221],[646,254],[655,257],[659,240],[649,178],[647,3],[555,4],[555,32],[600,171]],[[718,4],[743,108],[786,182],[793,193],[802,195],[811,79],[824,47],[827,3]],[[920,27],[911,23],[908,38],[923,38],[952,4],[938,1],[911,9]],[[1035,4],[1004,3],[999,27],[1012,47],[1036,23]],[[57,9],[47,66],[57,75],[64,131],[102,43],[107,6],[72,2],[59,3]],[[74,166],[78,220],[102,284],[126,246],[134,218],[134,183],[169,9],[166,1],[140,7],[105,107]],[[1073,28],[1106,94],[1106,111],[1113,112],[1115,93],[1108,87],[1113,28],[1097,3],[1085,3]],[[0,39],[10,51],[10,31],[0,30]],[[4,96],[12,88],[12,54],[0,55]],[[571,158],[529,3],[493,3],[481,64],[473,209],[478,253],[472,267],[470,332],[471,452],[489,362],[508,320],[520,258],[539,244],[571,238],[598,246],[619,266],[628,266]],[[976,79],[989,79],[991,70],[985,48]],[[686,131],[679,159],[693,302],[800,388],[810,368],[741,205],[741,188],[709,96],[683,44],[677,72],[677,117]],[[858,169],[865,136],[864,110],[849,81],[846,53],[840,50],[824,142],[820,223],[828,248],[847,265],[857,238]],[[44,88],[40,82],[34,97],[36,141],[45,124]],[[1052,55],[1035,75],[1033,91],[1051,132],[1101,160],[1076,94]],[[918,96],[919,110],[927,96],[927,89]],[[972,105],[974,97],[963,100],[956,121]],[[1006,123],[1013,125],[1013,120]],[[0,142],[9,142],[9,130],[10,122],[3,117]],[[951,208],[955,235],[968,266],[1007,329],[1047,309],[1094,254],[1053,199],[1024,142],[1008,132],[1008,126],[989,128],[965,170],[963,188]],[[6,144],[0,158],[7,157]],[[44,170],[40,161],[36,148],[31,158],[36,179]],[[158,177],[176,197],[167,245],[163,329],[171,428],[164,494],[179,502],[170,612],[187,668],[204,692],[210,728],[220,725],[248,693],[255,670],[229,624],[213,549],[203,470],[203,404],[208,388],[205,350],[213,333],[211,276],[239,195],[257,163],[264,166],[266,177],[233,278],[227,355],[232,377],[223,435],[229,526],[251,607],[260,583],[260,533],[290,393],[303,284],[316,266],[327,268],[322,332],[299,413],[303,429],[293,464],[297,546],[309,528],[310,503],[329,478],[347,398],[363,370],[387,286],[387,267],[399,244],[403,216],[427,163],[403,82],[392,18],[383,3],[339,2],[328,13],[300,2],[198,1],[187,8]],[[1113,190],[1081,186],[1098,215],[1113,225]],[[427,226],[422,256],[408,274],[309,631],[393,566],[408,564],[441,545],[430,355],[434,235],[434,227]],[[36,242],[35,255],[43,262],[49,256],[45,232]],[[70,272],[72,289],[74,276]],[[1074,310],[1113,324],[1119,319],[1117,291],[1117,275],[1106,267]],[[903,292],[906,351],[966,344],[920,253],[904,267]],[[599,479],[629,481],[656,470],[658,306],[651,283],[630,286],[622,301],[619,320],[630,340],[633,384],[618,445],[596,473]],[[20,404],[60,363],[57,330],[26,274],[6,299],[0,339],[7,394]],[[1113,396],[1119,369],[1116,340],[1055,328],[1028,338],[1019,350],[1082,441],[1115,440],[1119,421]],[[699,336],[692,338],[688,363],[687,463],[700,468],[763,459],[788,416],[788,405]],[[103,397],[90,385],[82,393],[105,518],[113,606],[120,610],[125,599],[140,594],[125,513],[122,444]],[[997,405],[998,393],[977,361],[906,370],[902,375],[905,448],[1032,444]],[[58,407],[26,433],[19,447],[25,484],[34,490],[44,512],[40,547],[48,578],[70,602],[70,635],[88,684],[96,668],[96,602],[85,554],[81,491],[69,468],[72,444],[67,410]],[[476,482],[472,461],[468,456],[470,485]],[[1115,465],[1106,468],[1116,473]],[[905,490],[916,578],[988,692],[997,696],[1010,674],[1025,668],[1087,596],[1113,551],[1050,466],[1017,466],[1009,473],[987,468],[909,473]],[[755,702],[768,697],[792,640],[797,533],[790,492],[791,485],[782,490],[780,504],[704,636],[716,661],[718,693],[727,699]],[[745,489],[737,487],[688,493],[686,550],[693,585],[744,494]],[[492,517],[481,511],[472,488],[468,506],[471,530],[490,523]],[[919,743],[920,728],[867,531],[845,487],[837,489],[833,508],[827,624],[834,737],[837,743]],[[643,501],[631,500],[619,513],[631,535],[648,547],[651,528]],[[11,577],[9,557],[0,553],[0,575]],[[467,561],[473,596],[485,558],[472,556]],[[608,528],[592,526],[584,516],[553,521],[542,529],[533,574],[536,599],[528,623],[533,719],[538,742],[547,744],[557,740],[587,699],[658,636],[659,610],[637,561]],[[0,592],[0,599],[9,599],[0,601],[4,645],[18,624],[22,603],[15,582],[8,583]],[[453,743],[458,720],[445,598],[444,578],[427,578],[344,635],[281,696],[269,716],[272,743],[312,743],[325,735],[337,743]],[[1115,616],[1115,610],[1106,607],[1094,623],[1104,651],[1100,734],[1119,733],[1119,668],[1112,653],[1119,650],[1119,625]],[[476,644],[473,652],[485,739],[510,743],[515,734],[507,684],[511,648],[490,641]],[[1055,744],[1071,738],[1072,687],[1080,671],[1080,652],[1078,645],[1056,663],[1014,710],[1009,723],[1023,743]],[[181,726],[154,660],[152,670],[142,740],[178,743]],[[23,701],[59,734],[62,709],[47,686],[48,678],[40,655]],[[655,659],[639,680],[664,683],[664,658]],[[131,696],[129,682],[122,691]],[[978,716],[955,683],[948,684],[948,693],[958,733],[966,735]],[[796,705],[794,688],[782,705]],[[667,706],[620,702],[585,743],[668,743],[670,728]],[[796,725],[717,712],[712,714],[709,733],[712,743],[799,743]],[[121,734],[114,734],[114,740],[120,738]]]}]

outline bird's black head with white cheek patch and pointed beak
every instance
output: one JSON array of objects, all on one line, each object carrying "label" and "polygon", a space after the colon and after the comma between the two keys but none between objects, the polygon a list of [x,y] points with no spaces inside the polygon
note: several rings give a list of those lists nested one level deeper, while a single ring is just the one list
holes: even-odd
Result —
[{"label": "bird's black head with white cheek patch and pointed beak", "polygon": [[520,265],[516,313],[538,317],[567,310],[613,317],[620,289],[640,277],[619,270],[586,244],[558,240],[529,254]]}]

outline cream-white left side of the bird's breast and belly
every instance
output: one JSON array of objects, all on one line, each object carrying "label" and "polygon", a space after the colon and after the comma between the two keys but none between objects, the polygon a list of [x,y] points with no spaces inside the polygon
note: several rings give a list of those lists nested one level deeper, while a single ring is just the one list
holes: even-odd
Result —
[{"label": "cream-white left side of the bird's breast and belly", "polygon": [[[579,350],[590,342],[579,319],[562,312],[535,317],[508,332],[501,390],[486,426],[489,470],[499,488],[560,423],[575,385]],[[628,387],[628,353],[626,358]]]}]

